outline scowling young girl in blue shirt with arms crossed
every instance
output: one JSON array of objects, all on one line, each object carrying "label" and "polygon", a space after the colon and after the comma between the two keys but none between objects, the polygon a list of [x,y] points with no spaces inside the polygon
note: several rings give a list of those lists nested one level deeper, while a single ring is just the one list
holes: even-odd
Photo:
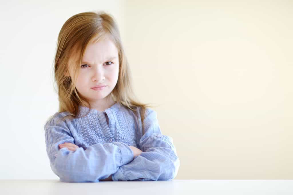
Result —
[{"label": "scowling young girl in blue shirt with arms crossed", "polygon": [[157,114],[135,100],[114,18],[84,12],[62,26],[54,59],[59,112],[45,126],[61,182],[170,180],[180,162]]}]

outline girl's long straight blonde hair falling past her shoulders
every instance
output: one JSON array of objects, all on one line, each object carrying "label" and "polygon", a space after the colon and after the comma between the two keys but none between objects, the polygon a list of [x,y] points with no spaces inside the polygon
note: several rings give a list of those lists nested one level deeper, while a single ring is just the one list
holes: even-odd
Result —
[{"label": "girl's long straight blonde hair falling past her shoulders", "polygon": [[[151,106],[136,100],[137,98],[132,90],[130,67],[122,47],[117,23],[113,16],[104,11],[83,12],[71,16],[63,24],[59,32],[54,58],[54,82],[57,84],[59,112],[68,111],[71,113],[63,117],[62,120],[78,118],[80,113],[79,106],[86,106],[83,101],[91,109],[89,102],[76,90],[75,83],[87,45],[105,38],[113,41],[119,55],[118,80],[109,95],[115,102],[119,102],[125,108],[134,111],[137,116],[136,108],[141,108],[140,116],[144,134],[144,115],[147,107]],[[69,76],[69,69],[73,71],[73,78]]]}]

